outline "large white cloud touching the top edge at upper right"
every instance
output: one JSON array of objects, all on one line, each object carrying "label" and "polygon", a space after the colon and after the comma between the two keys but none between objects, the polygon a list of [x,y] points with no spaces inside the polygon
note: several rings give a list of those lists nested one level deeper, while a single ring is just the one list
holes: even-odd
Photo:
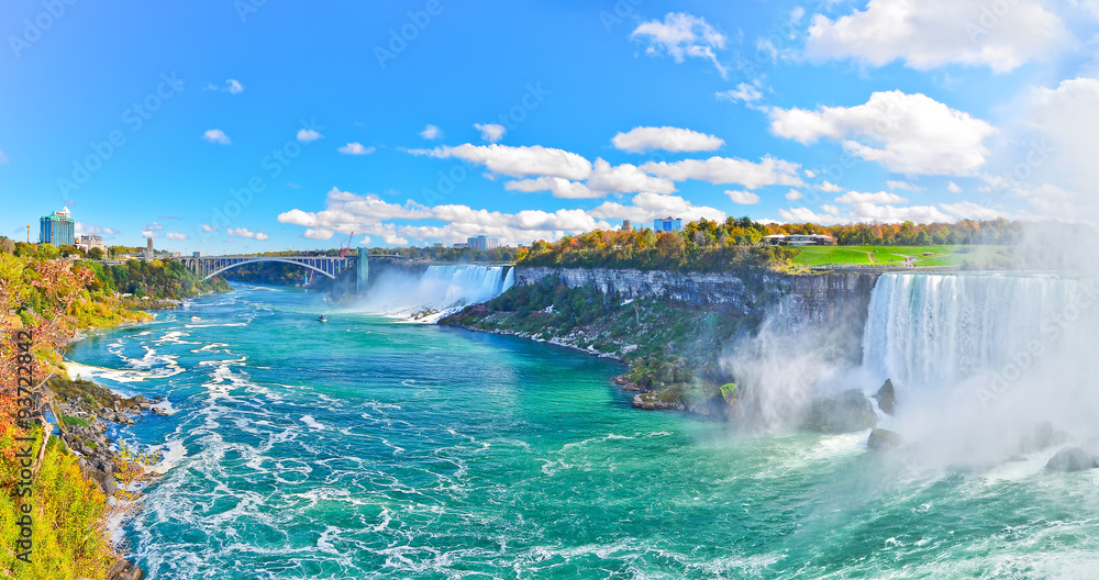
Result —
[{"label": "large white cloud touching the top edge at upper right", "polygon": [[818,14],[806,56],[872,66],[903,60],[918,70],[988,66],[1006,72],[1048,57],[1070,38],[1041,0],[869,0],[865,10],[835,21]]}]

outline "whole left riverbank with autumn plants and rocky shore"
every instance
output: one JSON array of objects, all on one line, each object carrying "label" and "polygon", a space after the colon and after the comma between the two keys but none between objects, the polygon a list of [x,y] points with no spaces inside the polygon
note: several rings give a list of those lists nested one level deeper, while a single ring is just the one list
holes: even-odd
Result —
[{"label": "whole left riverbank with autumn plants and rocky shore", "polygon": [[[108,529],[112,518],[132,512],[149,457],[106,433],[108,422],[132,423],[130,414],[140,414],[149,402],[71,380],[62,353],[89,330],[145,323],[154,316],[144,309],[178,308],[184,298],[229,288],[224,280],[197,279],[180,266],[132,260],[104,267],[0,252],[0,528],[4,545],[15,545],[11,534],[30,538],[23,540],[25,553],[2,553],[0,576],[141,576]],[[30,388],[18,380],[26,376],[33,378]],[[21,440],[33,443],[15,445]],[[34,457],[31,472],[36,475],[25,481],[15,468],[24,448]],[[33,526],[15,525],[24,516]]]}]

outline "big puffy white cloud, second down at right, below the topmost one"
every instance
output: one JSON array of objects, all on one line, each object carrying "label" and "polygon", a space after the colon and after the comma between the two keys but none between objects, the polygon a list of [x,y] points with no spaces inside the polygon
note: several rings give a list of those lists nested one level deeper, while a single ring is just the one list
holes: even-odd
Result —
[{"label": "big puffy white cloud, second down at right, below the topmost one", "polygon": [[875,92],[866,104],[770,110],[776,135],[812,144],[821,137],[890,171],[906,175],[972,175],[985,164],[985,140],[996,129],[924,94]]}]

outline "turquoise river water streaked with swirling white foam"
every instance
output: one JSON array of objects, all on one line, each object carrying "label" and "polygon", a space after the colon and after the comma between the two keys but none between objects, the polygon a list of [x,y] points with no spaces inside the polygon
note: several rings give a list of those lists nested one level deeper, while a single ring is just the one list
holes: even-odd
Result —
[{"label": "turquoise river water streaked with swirling white foam", "polygon": [[869,453],[867,432],[739,434],[631,410],[614,362],[254,286],[67,358],[175,410],[118,431],[165,453],[123,528],[152,579],[1099,570],[1099,475],[1047,472],[1059,447],[977,468]]}]

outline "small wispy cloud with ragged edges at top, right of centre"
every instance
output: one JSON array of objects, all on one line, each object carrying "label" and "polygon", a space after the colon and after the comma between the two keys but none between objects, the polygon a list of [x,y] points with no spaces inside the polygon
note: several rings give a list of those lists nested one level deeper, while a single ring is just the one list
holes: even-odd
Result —
[{"label": "small wispy cloud with ragged edges at top, right of centre", "polygon": [[725,48],[725,35],[699,16],[669,12],[664,22],[652,20],[642,23],[630,37],[646,42],[645,54],[650,56],[667,53],[676,63],[682,63],[686,57],[703,58],[713,63],[722,78],[729,74],[717,55],[717,51]]}]

